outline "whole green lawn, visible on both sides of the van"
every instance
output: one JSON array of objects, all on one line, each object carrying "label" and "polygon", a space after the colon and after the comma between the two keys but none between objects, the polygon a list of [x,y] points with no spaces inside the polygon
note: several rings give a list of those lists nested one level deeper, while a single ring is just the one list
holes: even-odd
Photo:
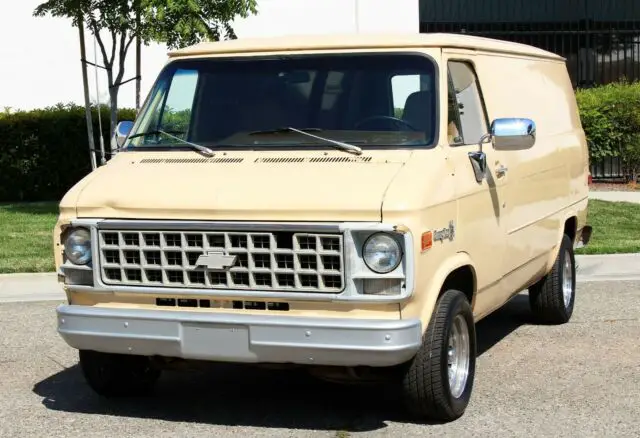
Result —
[{"label": "whole green lawn, visible on both sides of the van", "polygon": [[[57,203],[0,204],[0,273],[52,272]],[[640,204],[589,201],[591,242],[578,254],[640,252]]]}]

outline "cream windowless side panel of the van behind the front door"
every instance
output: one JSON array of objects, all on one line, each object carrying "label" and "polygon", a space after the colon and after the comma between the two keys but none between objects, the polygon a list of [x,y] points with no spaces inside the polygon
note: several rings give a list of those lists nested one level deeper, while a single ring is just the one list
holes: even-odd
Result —
[{"label": "cream windowless side panel of the van behind the front door", "polygon": [[503,271],[505,288],[515,293],[546,273],[567,209],[587,197],[584,132],[564,63],[483,53],[476,68],[490,119],[526,117],[537,125],[532,148],[505,151],[503,158]]}]

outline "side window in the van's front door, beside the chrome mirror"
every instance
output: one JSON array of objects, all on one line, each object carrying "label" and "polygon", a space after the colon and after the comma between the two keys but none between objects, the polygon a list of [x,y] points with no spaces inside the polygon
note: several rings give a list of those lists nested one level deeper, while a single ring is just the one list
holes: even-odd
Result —
[{"label": "side window in the van's front door, beside the chrome mirror", "polygon": [[476,144],[489,126],[480,84],[468,62],[449,61],[449,143]]}]

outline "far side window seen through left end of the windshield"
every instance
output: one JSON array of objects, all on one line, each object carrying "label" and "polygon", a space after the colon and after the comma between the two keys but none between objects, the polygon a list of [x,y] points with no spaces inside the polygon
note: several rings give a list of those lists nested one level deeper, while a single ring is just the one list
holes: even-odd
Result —
[{"label": "far side window seen through left end of the windshield", "polygon": [[175,72],[158,124],[160,129],[176,137],[186,138],[197,84],[196,71],[177,70]]}]

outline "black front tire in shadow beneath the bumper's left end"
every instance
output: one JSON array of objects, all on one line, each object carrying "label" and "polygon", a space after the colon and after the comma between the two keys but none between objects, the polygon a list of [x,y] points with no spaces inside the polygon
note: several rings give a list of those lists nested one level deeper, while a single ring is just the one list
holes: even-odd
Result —
[{"label": "black front tire in shadow beneath the bumper's left end", "polygon": [[80,350],[85,380],[103,397],[143,396],[153,392],[161,370],[146,356]]}]

